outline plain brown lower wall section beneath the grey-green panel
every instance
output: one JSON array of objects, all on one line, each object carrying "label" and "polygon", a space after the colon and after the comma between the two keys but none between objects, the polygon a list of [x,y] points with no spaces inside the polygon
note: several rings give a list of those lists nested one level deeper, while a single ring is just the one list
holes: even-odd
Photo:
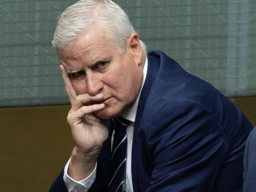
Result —
[{"label": "plain brown lower wall section beneath the grey-green panel", "polygon": [[[256,126],[256,96],[230,98]],[[69,105],[0,109],[1,191],[46,192],[74,146]]]}]

